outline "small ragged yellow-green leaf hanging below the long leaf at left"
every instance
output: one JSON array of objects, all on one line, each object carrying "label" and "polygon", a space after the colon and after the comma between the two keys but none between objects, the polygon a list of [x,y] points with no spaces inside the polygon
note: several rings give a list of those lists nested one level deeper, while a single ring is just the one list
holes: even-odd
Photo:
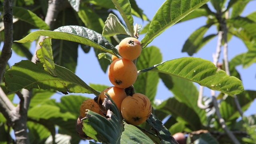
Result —
[{"label": "small ragged yellow-green leaf hanging below the long leaf at left", "polygon": [[51,49],[51,38],[45,38],[43,42],[39,42],[41,48],[37,50],[37,57],[43,63],[44,70],[53,76],[57,76],[53,61],[53,51]]}]

